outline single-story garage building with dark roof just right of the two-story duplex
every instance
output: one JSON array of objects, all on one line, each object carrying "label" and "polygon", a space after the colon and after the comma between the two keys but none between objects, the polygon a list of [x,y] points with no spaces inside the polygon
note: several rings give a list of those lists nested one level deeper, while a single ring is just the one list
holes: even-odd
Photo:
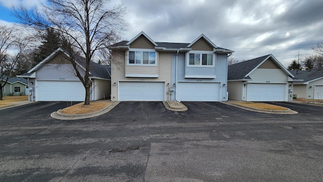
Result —
[{"label": "single-story garage building with dark roof just right of the two-story duplex", "polygon": [[273,55],[228,66],[230,100],[292,101],[294,75]]}]

